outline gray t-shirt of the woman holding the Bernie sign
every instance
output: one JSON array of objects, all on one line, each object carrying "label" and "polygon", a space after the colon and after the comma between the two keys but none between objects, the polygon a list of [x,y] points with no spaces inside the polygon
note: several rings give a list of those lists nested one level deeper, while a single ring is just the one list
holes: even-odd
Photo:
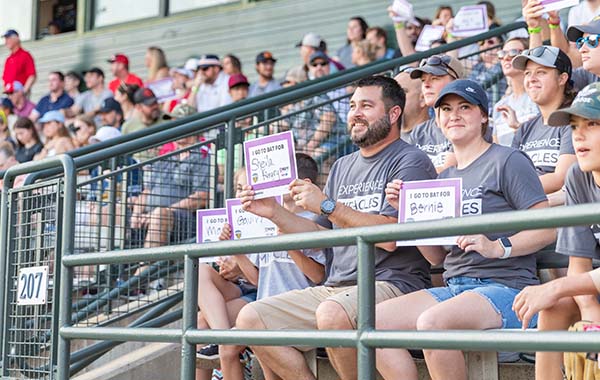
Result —
[{"label": "gray t-shirt of the woman holding the Bernie sign", "polygon": [[[531,160],[523,152],[497,144],[492,144],[466,168],[453,166],[440,173],[439,178],[462,178],[463,216],[525,210],[546,200]],[[515,233],[486,236],[493,241]],[[487,259],[454,246],[446,256],[444,268],[445,280],[456,276],[477,277],[517,289],[538,283],[535,255]]]}]

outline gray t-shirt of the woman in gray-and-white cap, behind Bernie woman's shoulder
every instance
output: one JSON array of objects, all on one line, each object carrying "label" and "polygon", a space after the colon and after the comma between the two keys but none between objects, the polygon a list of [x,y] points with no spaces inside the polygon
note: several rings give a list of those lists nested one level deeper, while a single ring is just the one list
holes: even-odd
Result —
[{"label": "gray t-shirt of the woman in gray-and-white cap, behind Bernie woman's shoulder", "polygon": [[575,154],[571,141],[571,127],[544,125],[541,114],[519,127],[512,147],[527,153],[538,175],[554,173],[559,156]]}]

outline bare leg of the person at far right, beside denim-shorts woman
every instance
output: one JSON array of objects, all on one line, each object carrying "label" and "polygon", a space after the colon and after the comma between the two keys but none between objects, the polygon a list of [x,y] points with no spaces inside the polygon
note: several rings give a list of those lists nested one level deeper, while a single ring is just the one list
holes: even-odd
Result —
[{"label": "bare leg of the person at far right, beside denim-shorts woman", "polygon": [[[551,308],[540,311],[539,331],[567,330],[581,319],[579,308],[571,297],[562,298]],[[562,352],[537,352],[535,354],[536,380],[562,380]]]}]

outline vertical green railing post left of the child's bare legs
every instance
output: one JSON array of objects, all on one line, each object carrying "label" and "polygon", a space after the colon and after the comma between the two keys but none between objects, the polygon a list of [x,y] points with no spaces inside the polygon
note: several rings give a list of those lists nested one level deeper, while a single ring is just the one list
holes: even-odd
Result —
[{"label": "vertical green railing post left of the child's bare legs", "polygon": [[196,345],[189,343],[185,333],[198,324],[198,259],[184,259],[183,320],[181,334],[181,380],[196,378]]}]

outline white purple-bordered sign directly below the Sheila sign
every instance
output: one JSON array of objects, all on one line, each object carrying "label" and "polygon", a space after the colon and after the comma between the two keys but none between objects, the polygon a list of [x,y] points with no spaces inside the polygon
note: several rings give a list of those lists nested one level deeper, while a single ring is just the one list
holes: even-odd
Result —
[{"label": "white purple-bordered sign directly below the Sheila sign", "polygon": [[[281,203],[281,197],[275,197]],[[227,219],[231,226],[231,239],[250,239],[266,236],[276,236],[277,226],[269,219],[254,215],[242,209],[239,198],[227,199]]]}]

